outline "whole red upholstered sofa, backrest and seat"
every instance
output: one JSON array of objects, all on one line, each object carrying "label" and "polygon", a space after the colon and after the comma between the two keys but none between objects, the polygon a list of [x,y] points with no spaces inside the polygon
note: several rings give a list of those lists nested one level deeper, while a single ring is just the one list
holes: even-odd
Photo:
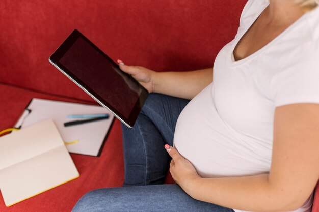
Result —
[{"label": "whole red upholstered sofa, backrest and seat", "polygon": [[[74,28],[113,60],[156,71],[212,67],[232,40],[247,1],[82,0],[0,4],[0,130],[12,127],[32,98],[96,104],[48,62]],[[71,154],[81,176],[0,211],[70,211],[86,192],[123,183],[120,122],[100,157]],[[167,183],[172,183],[168,177]],[[319,211],[319,194],[313,211]]]}]

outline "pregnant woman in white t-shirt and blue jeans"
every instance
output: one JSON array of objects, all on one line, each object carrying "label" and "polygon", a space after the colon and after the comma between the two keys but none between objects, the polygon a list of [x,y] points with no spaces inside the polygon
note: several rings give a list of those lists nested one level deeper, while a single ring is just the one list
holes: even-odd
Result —
[{"label": "pregnant woman in white t-shirt and blue jeans", "polygon": [[[319,178],[317,6],[249,0],[214,72],[158,73],[119,60],[151,93],[134,128],[122,127],[124,187],[89,192],[73,212],[311,211]],[[168,169],[176,184],[157,185]]]}]

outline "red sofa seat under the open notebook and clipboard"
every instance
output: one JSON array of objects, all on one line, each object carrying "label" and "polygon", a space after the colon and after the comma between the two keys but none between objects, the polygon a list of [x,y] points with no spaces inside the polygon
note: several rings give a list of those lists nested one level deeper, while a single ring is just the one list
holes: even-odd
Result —
[{"label": "red sofa seat under the open notebook and clipboard", "polygon": [[[0,84],[0,129],[14,126],[32,98],[83,102]],[[115,120],[100,157],[76,154],[71,154],[71,157],[80,173],[79,178],[10,207],[5,206],[0,196],[0,211],[71,211],[76,201],[93,189],[122,186],[124,164],[119,120]]]}]

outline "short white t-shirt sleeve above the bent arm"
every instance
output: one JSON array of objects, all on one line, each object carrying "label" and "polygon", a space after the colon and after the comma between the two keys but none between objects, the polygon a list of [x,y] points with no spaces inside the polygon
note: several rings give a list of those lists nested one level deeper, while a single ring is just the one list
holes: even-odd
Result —
[{"label": "short white t-shirt sleeve above the bent arm", "polygon": [[[316,45],[315,45],[316,46]],[[319,50],[296,55],[271,81],[275,106],[296,103],[319,104]]]}]

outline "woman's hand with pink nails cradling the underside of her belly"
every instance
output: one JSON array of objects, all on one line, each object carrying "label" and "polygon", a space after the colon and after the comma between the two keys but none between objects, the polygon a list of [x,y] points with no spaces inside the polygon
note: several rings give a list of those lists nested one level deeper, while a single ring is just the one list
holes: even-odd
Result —
[{"label": "woman's hand with pink nails cradling the underside of her belly", "polygon": [[188,194],[191,192],[192,181],[200,178],[193,164],[183,158],[178,151],[168,144],[165,145],[168,154],[172,157],[170,172],[175,182]]}]

